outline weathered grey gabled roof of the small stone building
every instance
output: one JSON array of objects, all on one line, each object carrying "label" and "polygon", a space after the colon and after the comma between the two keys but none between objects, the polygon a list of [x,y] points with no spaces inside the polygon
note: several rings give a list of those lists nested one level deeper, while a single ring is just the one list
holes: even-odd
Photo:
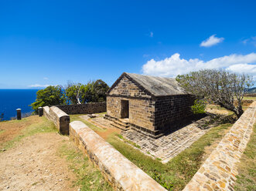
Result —
[{"label": "weathered grey gabled roof of the small stone building", "polygon": [[[138,85],[142,86],[146,92],[149,92],[151,95],[165,96],[187,94],[184,89],[179,86],[176,79],[156,77],[151,75],[139,75],[127,72],[124,72],[119,77],[119,79],[114,82],[114,84],[111,86],[111,89],[113,89],[114,86],[118,84],[124,75],[127,75],[129,78],[133,79],[133,81],[137,82]],[[111,89],[109,89],[108,93],[111,92]]]}]

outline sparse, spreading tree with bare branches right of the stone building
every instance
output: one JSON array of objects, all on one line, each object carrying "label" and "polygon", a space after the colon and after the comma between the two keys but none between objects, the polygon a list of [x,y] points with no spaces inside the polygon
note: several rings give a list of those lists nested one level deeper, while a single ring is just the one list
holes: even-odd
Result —
[{"label": "sparse, spreading tree with bare branches right of the stone building", "polygon": [[[238,75],[225,70],[204,69],[178,75],[179,84],[198,98],[204,98],[235,113],[237,119],[243,114],[241,101],[244,92],[249,89],[252,79],[248,75]],[[237,99],[237,106],[234,105]]]}]

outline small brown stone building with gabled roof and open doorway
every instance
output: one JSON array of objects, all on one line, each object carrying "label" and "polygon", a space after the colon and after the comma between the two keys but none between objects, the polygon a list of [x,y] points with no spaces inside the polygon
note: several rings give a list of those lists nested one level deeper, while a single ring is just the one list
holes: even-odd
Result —
[{"label": "small brown stone building with gabled roof and open doorway", "polygon": [[120,129],[158,138],[192,116],[193,101],[176,79],[124,72],[107,92],[105,117]]}]

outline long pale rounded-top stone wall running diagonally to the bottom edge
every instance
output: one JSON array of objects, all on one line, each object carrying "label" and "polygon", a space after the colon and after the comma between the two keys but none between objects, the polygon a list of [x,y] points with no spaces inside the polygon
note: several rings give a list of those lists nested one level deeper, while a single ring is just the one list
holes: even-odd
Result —
[{"label": "long pale rounded-top stone wall running diagonally to the bottom edge", "polygon": [[115,190],[166,190],[83,122],[70,122],[70,139],[101,169]]}]

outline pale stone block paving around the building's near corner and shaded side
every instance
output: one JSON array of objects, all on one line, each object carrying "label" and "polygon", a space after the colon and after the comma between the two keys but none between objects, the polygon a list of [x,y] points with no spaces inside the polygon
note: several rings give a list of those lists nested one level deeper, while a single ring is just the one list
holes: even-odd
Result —
[{"label": "pale stone block paving around the building's near corner and shaded side", "polygon": [[121,135],[131,142],[135,142],[144,153],[149,152],[155,158],[162,159],[162,163],[168,163],[170,159],[191,146],[193,142],[200,139],[208,131],[208,129],[200,129],[200,123],[206,121],[207,117],[176,129],[176,131],[158,139],[152,139],[133,129],[122,131]]}]

